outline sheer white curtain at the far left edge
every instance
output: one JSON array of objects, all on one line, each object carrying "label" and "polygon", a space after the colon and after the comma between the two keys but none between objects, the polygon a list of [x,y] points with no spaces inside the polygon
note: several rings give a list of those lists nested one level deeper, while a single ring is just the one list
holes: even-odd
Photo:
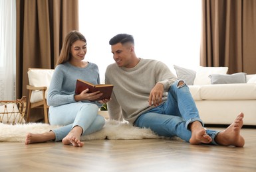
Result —
[{"label": "sheer white curtain at the far left edge", "polygon": [[16,3],[0,1],[0,100],[15,100]]}]

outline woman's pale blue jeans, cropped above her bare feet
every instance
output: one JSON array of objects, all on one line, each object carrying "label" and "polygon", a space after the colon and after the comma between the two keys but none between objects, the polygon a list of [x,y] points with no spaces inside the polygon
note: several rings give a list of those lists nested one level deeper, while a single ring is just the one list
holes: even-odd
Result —
[{"label": "woman's pale blue jeans, cropped above her bare feet", "polygon": [[49,121],[51,125],[63,126],[52,130],[56,142],[63,140],[74,126],[80,126],[84,136],[102,129],[105,124],[105,118],[98,115],[97,105],[82,102],[50,107]]}]

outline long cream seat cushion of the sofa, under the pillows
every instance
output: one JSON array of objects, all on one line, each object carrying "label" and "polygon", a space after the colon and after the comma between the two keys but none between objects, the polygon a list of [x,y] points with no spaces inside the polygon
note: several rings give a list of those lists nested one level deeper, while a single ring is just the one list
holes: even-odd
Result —
[{"label": "long cream seat cushion of the sofa, under the pillows", "polygon": [[256,99],[256,85],[248,83],[201,85],[203,100],[253,100]]}]

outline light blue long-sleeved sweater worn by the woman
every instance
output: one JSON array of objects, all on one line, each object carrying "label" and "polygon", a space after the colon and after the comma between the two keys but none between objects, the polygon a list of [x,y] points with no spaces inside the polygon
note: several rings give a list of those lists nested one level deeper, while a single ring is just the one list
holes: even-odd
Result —
[{"label": "light blue long-sleeved sweater worn by the woman", "polygon": [[[57,65],[51,79],[51,84],[47,95],[47,104],[55,107],[76,102],[74,100],[76,79],[82,79],[93,84],[100,83],[98,66],[93,63],[88,63],[86,67],[81,68],[71,65],[69,62]],[[97,101],[82,102],[96,103],[98,107],[102,106],[102,104],[98,103]]]}]

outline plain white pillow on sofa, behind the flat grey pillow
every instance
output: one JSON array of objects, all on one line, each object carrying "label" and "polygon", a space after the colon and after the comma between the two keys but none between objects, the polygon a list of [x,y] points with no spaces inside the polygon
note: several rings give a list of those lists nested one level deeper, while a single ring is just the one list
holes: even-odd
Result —
[{"label": "plain white pillow on sofa, behind the flat grey pillow", "polygon": [[209,85],[211,84],[211,79],[209,75],[211,74],[227,74],[228,67],[202,67],[200,66],[195,74],[195,80],[193,85]]}]

